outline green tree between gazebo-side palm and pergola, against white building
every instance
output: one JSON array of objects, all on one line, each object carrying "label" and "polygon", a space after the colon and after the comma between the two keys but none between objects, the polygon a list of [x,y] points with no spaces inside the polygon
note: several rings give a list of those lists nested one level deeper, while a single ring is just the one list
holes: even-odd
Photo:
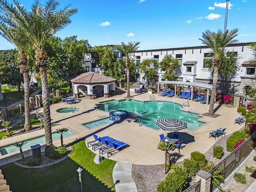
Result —
[{"label": "green tree between gazebo-side palm and pergola, against white building", "polygon": [[149,86],[153,86],[157,81],[157,72],[158,72],[158,63],[153,58],[148,58],[143,60],[140,63],[140,66],[137,68],[141,73],[145,73]]}]

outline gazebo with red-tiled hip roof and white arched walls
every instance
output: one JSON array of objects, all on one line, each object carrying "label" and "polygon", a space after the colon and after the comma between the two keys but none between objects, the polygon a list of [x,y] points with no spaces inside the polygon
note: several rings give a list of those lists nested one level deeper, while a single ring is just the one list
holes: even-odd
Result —
[{"label": "gazebo with red-tiled hip roof and white arched walls", "polygon": [[115,91],[116,79],[98,73],[81,73],[69,79],[72,83],[73,93],[77,98],[82,94],[88,99],[93,99],[96,95],[102,96],[102,93],[104,93],[105,98],[108,98],[109,94],[113,94]]}]

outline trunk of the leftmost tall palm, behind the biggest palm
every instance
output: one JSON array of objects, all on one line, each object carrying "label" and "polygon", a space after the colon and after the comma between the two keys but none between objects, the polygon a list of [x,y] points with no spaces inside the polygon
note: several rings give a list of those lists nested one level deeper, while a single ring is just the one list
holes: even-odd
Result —
[{"label": "trunk of the leftmost tall palm, behind the biggest palm", "polygon": [[23,74],[24,79],[24,116],[25,116],[25,125],[24,129],[25,131],[31,131],[32,126],[29,119],[30,114],[30,108],[29,108],[29,70],[27,68],[28,60],[26,58],[26,55],[24,52],[19,52],[18,54],[18,64],[20,67],[20,72]]}]

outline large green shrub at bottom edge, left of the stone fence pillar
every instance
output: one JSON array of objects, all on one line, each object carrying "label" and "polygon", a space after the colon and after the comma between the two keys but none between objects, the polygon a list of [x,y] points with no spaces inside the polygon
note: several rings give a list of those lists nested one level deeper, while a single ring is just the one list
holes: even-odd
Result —
[{"label": "large green shrub at bottom edge, left of the stone fence pillar", "polygon": [[157,192],[182,192],[187,184],[188,174],[182,166],[172,165],[166,178],[157,184]]}]

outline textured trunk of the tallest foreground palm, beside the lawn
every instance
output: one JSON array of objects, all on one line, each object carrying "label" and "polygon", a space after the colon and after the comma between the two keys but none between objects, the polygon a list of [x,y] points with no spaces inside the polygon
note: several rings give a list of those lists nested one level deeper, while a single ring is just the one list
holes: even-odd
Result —
[{"label": "textured trunk of the tallest foreground palm, beside the lawn", "polygon": [[54,146],[52,143],[52,127],[51,127],[51,113],[50,113],[50,94],[47,80],[47,53],[43,49],[35,51],[35,63],[39,67],[39,73],[42,82],[42,100],[44,111],[44,131],[45,131],[45,156],[48,156],[53,151]]}]

